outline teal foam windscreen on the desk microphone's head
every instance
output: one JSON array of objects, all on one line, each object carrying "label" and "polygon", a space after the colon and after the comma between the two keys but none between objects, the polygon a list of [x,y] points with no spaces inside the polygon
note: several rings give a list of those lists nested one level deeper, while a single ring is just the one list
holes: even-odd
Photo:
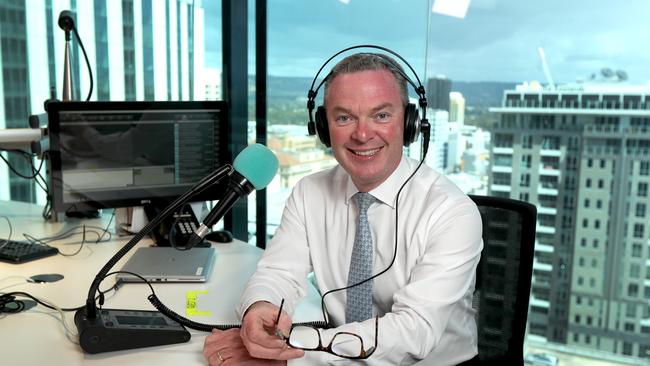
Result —
[{"label": "teal foam windscreen on the desk microphone's head", "polygon": [[278,158],[268,147],[253,144],[242,150],[232,165],[255,189],[264,189],[278,171]]}]

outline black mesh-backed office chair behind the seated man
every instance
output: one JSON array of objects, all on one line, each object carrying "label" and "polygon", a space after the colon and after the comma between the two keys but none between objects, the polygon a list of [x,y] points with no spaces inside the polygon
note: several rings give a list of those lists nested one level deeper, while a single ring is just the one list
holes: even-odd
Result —
[{"label": "black mesh-backed office chair behind the seated man", "polygon": [[537,209],[509,198],[470,198],[483,220],[473,301],[479,359],[482,365],[523,365]]}]

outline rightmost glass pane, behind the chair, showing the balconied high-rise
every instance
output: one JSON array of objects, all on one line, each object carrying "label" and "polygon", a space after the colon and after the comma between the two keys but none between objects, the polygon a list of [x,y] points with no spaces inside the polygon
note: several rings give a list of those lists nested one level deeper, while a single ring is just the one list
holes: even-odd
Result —
[{"label": "rightmost glass pane, behind the chair, showing the balconied high-rise", "polygon": [[449,95],[433,107],[431,153],[446,157],[434,167],[467,193],[538,207],[529,360],[650,358],[638,326],[650,322],[649,228],[635,216],[649,202],[650,51],[632,41],[649,12],[641,0],[499,0],[431,13],[427,75],[444,77],[428,80],[451,84],[428,90]]}]

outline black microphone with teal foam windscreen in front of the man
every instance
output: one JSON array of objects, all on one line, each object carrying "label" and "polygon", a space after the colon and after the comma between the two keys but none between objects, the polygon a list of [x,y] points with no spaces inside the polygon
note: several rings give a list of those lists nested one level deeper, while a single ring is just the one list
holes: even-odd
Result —
[{"label": "black microphone with teal foam windscreen in front of the man", "polygon": [[237,155],[233,167],[226,193],[199,228],[192,233],[185,249],[191,249],[201,243],[210,228],[223,218],[239,198],[247,196],[255,189],[266,188],[278,171],[278,158],[266,146],[253,144]]}]

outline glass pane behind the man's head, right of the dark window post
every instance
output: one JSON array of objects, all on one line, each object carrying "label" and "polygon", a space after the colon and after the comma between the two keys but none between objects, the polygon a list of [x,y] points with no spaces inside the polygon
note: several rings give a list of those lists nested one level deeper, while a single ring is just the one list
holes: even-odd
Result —
[{"label": "glass pane behind the man's head, right of the dark window post", "polygon": [[[424,82],[428,7],[426,0],[411,1],[406,6],[392,0],[269,2],[268,145],[280,160],[278,175],[267,188],[270,236],[298,180],[337,164],[329,149],[307,135],[307,91],[318,69],[344,48],[376,44],[399,53]],[[379,51],[366,48],[345,53],[325,66],[318,81],[337,61],[354,52]],[[407,74],[415,78],[408,70]],[[317,106],[322,104],[322,94],[321,89]],[[414,145],[419,149],[419,144]]]}]

